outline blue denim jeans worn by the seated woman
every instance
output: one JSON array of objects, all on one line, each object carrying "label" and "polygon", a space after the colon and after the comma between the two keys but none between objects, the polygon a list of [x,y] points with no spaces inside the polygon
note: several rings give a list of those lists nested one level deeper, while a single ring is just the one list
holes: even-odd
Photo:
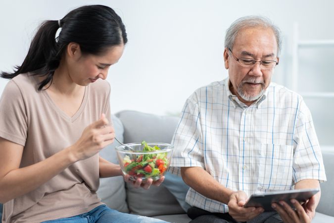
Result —
[{"label": "blue denim jeans worn by the seated woman", "polygon": [[118,212],[100,205],[90,212],[70,218],[46,221],[44,223],[166,223],[159,219]]}]

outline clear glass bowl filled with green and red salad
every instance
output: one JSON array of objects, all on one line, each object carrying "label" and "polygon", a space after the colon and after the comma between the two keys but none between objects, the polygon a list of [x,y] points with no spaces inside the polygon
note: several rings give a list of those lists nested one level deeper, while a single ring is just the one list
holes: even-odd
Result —
[{"label": "clear glass bowl filled with green and red salad", "polygon": [[146,143],[148,147],[142,143],[126,145],[133,150],[123,145],[115,149],[123,173],[129,174],[131,180],[137,178],[142,178],[143,181],[148,178],[158,180],[165,175],[173,154],[173,145],[154,142]]}]

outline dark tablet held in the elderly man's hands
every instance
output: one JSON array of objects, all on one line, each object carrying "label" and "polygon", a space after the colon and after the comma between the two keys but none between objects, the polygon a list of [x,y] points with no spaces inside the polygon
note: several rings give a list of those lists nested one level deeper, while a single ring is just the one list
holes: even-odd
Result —
[{"label": "dark tablet held in the elderly man's hands", "polygon": [[290,202],[292,198],[299,202],[305,202],[319,191],[319,188],[314,188],[256,193],[249,197],[244,207],[262,207],[265,211],[274,211],[274,209],[271,207],[273,202],[285,201],[288,205],[294,208]]}]

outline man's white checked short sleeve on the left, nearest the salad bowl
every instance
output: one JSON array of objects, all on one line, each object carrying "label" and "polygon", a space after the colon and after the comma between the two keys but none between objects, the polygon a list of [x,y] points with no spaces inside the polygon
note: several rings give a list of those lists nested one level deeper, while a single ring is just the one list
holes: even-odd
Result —
[{"label": "man's white checked short sleeve on the left, nearest the salad bowl", "polygon": [[195,94],[187,100],[183,108],[172,144],[174,145],[174,153],[170,165],[172,173],[180,174],[179,168],[174,167],[204,168],[200,112]]}]

